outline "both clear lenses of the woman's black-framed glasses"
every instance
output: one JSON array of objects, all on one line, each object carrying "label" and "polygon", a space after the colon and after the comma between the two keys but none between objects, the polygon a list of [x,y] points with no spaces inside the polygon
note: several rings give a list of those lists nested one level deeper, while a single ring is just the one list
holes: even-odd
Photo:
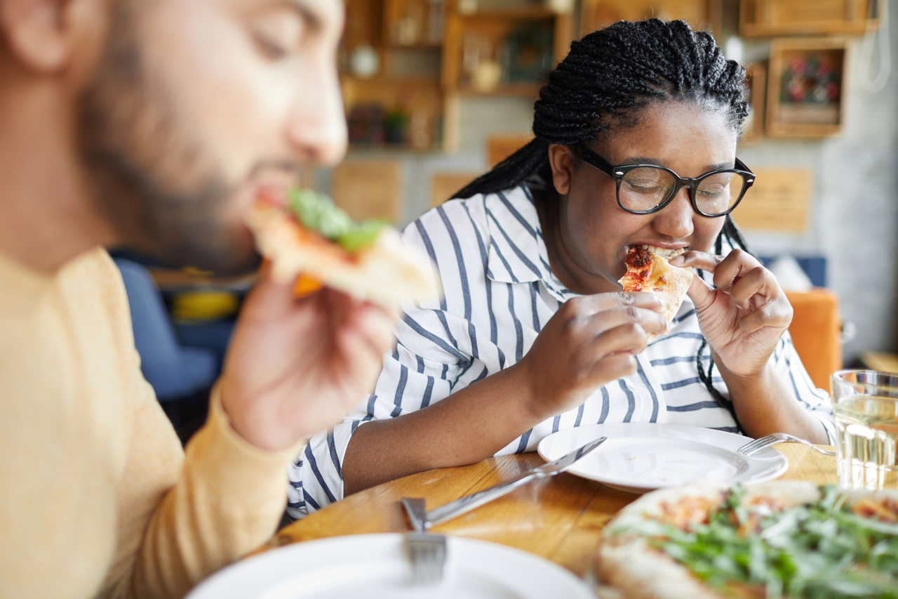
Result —
[{"label": "both clear lenses of the woman's black-framed glasses", "polygon": [[[744,183],[742,174],[709,174],[696,184],[695,203],[708,215],[726,212],[739,200]],[[670,197],[675,185],[674,175],[664,169],[640,166],[623,175],[618,196],[628,210],[652,210]]]}]

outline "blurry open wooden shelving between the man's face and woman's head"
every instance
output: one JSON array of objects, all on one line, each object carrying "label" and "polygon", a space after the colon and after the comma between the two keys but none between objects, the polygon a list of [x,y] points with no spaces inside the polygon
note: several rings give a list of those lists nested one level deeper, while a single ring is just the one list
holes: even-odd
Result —
[{"label": "blurry open wooden shelving between the man's face and woman's head", "polygon": [[451,149],[460,95],[535,100],[573,37],[566,4],[346,0],[339,68],[350,143]]}]

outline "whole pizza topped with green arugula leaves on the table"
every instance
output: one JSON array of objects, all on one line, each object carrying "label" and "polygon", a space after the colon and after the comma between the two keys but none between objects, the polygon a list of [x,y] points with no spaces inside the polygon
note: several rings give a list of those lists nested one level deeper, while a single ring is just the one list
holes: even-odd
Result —
[{"label": "whole pizza topped with green arugula leaves on the table", "polygon": [[665,488],[609,521],[596,559],[607,596],[898,599],[898,492]]}]

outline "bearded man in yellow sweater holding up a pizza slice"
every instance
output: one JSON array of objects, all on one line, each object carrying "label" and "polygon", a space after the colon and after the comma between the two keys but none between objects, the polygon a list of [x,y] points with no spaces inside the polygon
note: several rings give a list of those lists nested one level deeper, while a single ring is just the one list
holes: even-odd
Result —
[{"label": "bearded man in yellow sweater holding up a pizza slice", "polygon": [[0,596],[184,595],[258,547],[392,315],[263,273],[186,456],[104,246],[254,265],[260,185],[345,150],[339,0],[0,0]]}]

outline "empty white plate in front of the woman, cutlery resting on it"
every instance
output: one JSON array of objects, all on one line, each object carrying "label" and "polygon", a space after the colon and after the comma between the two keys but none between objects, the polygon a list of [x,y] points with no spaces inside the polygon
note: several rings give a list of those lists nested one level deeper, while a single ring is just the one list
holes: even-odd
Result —
[{"label": "empty white plate in front of the woman, cutlery resting on it", "polygon": [[579,426],[550,434],[536,451],[543,460],[558,460],[601,436],[608,441],[578,460],[568,472],[630,493],[699,480],[758,482],[777,478],[788,469],[786,456],[773,448],[746,457],[735,451],[750,441],[747,437],[699,426]]}]

